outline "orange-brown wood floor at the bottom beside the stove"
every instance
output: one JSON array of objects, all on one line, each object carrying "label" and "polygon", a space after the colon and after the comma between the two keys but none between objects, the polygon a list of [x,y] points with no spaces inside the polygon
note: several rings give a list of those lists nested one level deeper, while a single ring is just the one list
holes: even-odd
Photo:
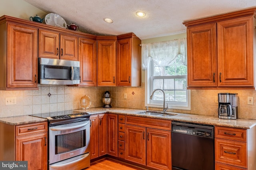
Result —
[{"label": "orange-brown wood floor at the bottom beside the stove", "polygon": [[85,168],[84,170],[145,170],[126,164],[124,162],[119,162],[110,158],[105,158],[97,162],[91,163],[91,166]]}]

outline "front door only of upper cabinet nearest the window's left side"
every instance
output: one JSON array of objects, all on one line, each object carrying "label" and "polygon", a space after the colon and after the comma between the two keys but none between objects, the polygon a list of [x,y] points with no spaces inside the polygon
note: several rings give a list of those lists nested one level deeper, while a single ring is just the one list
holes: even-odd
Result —
[{"label": "front door only of upper cabinet nearest the window's left side", "polygon": [[131,86],[132,39],[117,41],[117,86]]}]

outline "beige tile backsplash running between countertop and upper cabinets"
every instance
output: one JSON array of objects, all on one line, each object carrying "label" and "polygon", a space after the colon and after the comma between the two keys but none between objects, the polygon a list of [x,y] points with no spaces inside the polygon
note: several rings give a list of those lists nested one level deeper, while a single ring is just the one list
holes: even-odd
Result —
[{"label": "beige tile backsplash running between countertop and upper cabinets", "polygon": [[[90,107],[101,107],[106,90],[111,94],[112,106],[145,109],[144,86],[144,83],[141,87],[70,87],[39,84],[39,90],[0,91],[0,117],[79,109],[80,98],[83,95],[91,98]],[[191,110],[168,109],[168,111],[217,116],[218,103],[215,103],[215,98],[221,92],[238,93],[238,117],[256,119],[256,103],[247,105],[248,96],[252,96],[256,101],[254,90],[191,90]],[[127,99],[124,99],[125,93]],[[16,105],[6,106],[5,98],[8,97],[16,97]],[[161,111],[162,107],[149,107],[149,109]]]}]

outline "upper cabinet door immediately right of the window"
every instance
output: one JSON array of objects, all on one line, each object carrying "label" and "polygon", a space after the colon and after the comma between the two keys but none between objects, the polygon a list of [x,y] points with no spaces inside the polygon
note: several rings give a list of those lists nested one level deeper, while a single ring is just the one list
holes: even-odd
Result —
[{"label": "upper cabinet door immediately right of the window", "polygon": [[187,44],[188,87],[216,87],[216,23],[188,28]]}]

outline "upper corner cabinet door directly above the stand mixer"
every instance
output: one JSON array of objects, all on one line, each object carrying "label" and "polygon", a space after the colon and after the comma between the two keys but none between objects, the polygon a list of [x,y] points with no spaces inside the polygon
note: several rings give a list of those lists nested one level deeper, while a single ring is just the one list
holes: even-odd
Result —
[{"label": "upper corner cabinet door directly above the stand mixer", "polygon": [[98,41],[97,55],[97,85],[116,86],[116,41]]}]

